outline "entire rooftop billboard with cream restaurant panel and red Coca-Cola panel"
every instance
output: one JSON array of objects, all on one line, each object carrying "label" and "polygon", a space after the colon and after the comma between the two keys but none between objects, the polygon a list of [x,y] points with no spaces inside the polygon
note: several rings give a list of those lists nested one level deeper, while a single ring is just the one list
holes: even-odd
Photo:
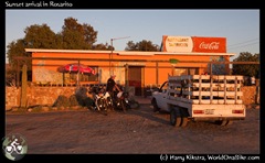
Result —
[{"label": "entire rooftop billboard with cream restaurant panel and red Coca-Cola panel", "polygon": [[226,39],[163,35],[162,46],[163,52],[226,53]]}]

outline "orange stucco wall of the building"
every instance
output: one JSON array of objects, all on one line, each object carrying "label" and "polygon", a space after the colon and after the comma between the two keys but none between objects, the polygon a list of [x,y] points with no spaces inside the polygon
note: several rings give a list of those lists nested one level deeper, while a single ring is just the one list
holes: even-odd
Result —
[{"label": "orange stucco wall of the building", "polygon": [[[81,64],[88,66],[98,66],[98,83],[106,83],[109,77],[109,62],[108,61],[96,61],[98,58],[109,59],[109,53],[44,53],[33,52],[32,57],[65,57],[65,58],[95,58],[95,61],[81,61]],[[156,62],[141,62],[136,59],[146,61],[169,61],[176,58],[179,61],[210,61],[211,56],[208,55],[118,55],[113,53],[113,59],[131,59],[131,62],[113,62],[114,73],[117,75],[116,79],[120,84],[125,84],[125,64],[129,66],[141,66],[142,67],[142,86],[149,86],[153,84],[161,85],[167,80],[168,75],[172,73],[172,65],[168,63],[158,63],[158,72],[156,69]],[[229,56],[225,56],[229,61]],[[33,59],[32,61],[32,80],[46,80],[52,83],[62,82],[62,73],[56,72],[59,66],[66,65],[70,63],[77,63],[77,61],[59,61],[59,59]],[[197,67],[199,74],[203,73],[208,68],[206,63],[178,63],[176,67]],[[158,77],[157,77],[158,74]],[[157,80],[158,79],[158,80]]]}]

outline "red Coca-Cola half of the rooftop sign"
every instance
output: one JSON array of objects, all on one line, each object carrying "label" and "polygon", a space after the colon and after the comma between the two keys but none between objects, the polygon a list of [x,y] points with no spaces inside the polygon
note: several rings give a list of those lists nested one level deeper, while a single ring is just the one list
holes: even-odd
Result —
[{"label": "red Coca-Cola half of the rooftop sign", "polygon": [[192,41],[193,41],[192,52],[226,53],[225,37],[192,36]]}]

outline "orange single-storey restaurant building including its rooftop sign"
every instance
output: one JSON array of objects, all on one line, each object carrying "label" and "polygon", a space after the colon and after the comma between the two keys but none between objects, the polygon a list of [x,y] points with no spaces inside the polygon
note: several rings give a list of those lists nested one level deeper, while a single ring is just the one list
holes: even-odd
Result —
[{"label": "orange single-storey restaurant building including its rooftop sign", "polygon": [[[235,55],[226,53],[225,37],[162,36],[161,52],[135,51],[83,51],[25,48],[31,53],[32,82],[34,83],[86,83],[106,84],[110,74],[117,83],[142,95],[146,87],[159,86],[169,75],[194,75],[209,72],[209,62],[230,61]],[[70,63],[87,65],[96,75],[60,72]],[[221,67],[221,68],[220,68]],[[229,74],[229,65],[215,70]]]}]

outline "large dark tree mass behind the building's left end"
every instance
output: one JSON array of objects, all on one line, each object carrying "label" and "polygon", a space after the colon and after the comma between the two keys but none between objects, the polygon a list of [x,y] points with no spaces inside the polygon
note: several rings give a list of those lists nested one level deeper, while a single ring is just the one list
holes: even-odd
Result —
[{"label": "large dark tree mass behind the building's left end", "polygon": [[[107,50],[107,46],[93,46],[96,42],[97,32],[88,24],[80,24],[76,19],[64,20],[61,33],[54,33],[45,23],[33,24],[24,30],[25,36],[8,44],[7,56],[10,64],[10,72],[17,69],[15,56],[31,56],[24,48],[65,48],[65,50]],[[23,63],[22,63],[23,62]],[[19,65],[25,64],[31,70],[31,61],[22,61]],[[12,70],[13,69],[13,70]]]}]

